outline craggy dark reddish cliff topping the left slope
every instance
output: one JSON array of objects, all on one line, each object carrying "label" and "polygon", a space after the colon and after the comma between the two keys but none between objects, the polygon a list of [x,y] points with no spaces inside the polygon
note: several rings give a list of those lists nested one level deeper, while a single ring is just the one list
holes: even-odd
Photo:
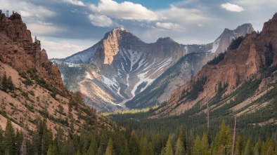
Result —
[{"label": "craggy dark reddish cliff topping the left slope", "polygon": [[0,43],[2,62],[18,72],[35,68],[49,84],[64,88],[58,67],[49,62],[46,51],[41,50],[40,41],[32,41],[31,32],[18,13],[9,18],[4,13],[0,15]]}]

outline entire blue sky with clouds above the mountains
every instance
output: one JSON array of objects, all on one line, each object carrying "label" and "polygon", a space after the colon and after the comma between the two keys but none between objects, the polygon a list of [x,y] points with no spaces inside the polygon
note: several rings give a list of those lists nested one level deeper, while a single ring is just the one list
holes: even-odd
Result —
[{"label": "entire blue sky with clouds above the mountains", "polygon": [[146,43],[169,36],[183,44],[210,43],[224,28],[252,23],[262,30],[276,0],[1,0],[20,13],[49,58],[65,58],[124,27]]}]

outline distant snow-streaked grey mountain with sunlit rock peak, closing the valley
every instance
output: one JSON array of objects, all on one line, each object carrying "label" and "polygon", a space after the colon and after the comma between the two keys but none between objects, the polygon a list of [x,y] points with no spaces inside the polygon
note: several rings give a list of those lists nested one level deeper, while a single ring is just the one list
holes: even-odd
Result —
[{"label": "distant snow-streaked grey mountain with sunlit rock peak, closing the valley", "polygon": [[226,29],[214,43],[182,45],[169,37],[144,43],[127,29],[116,28],[91,48],[51,61],[58,65],[65,87],[82,92],[87,105],[98,111],[122,109],[124,102],[141,93],[184,55],[206,52],[207,59],[199,60],[204,65],[221,52],[218,47],[223,49],[232,39],[252,31],[252,25],[245,24]]}]

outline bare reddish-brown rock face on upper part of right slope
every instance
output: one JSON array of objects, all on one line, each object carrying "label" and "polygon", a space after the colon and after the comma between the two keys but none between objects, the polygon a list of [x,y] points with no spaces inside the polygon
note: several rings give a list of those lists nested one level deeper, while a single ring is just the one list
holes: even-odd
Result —
[{"label": "bare reddish-brown rock face on upper part of right slope", "polygon": [[[237,39],[233,43],[237,45],[236,48],[230,46],[224,59],[218,64],[205,65],[191,81],[176,89],[167,105],[155,112],[156,116],[181,114],[196,104],[207,105],[219,94],[219,90],[224,90],[221,94],[221,97],[224,97],[242,86],[245,81],[259,79],[264,74],[263,70],[277,63],[276,27],[277,14],[264,23],[261,34],[252,32],[243,39]],[[195,91],[195,86],[200,89]],[[194,97],[191,97],[191,93],[195,94]]]}]

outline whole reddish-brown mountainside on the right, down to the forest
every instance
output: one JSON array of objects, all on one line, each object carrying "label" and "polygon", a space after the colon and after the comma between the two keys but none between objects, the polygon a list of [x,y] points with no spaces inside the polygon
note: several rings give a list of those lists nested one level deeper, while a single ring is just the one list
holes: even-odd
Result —
[{"label": "whole reddish-brown mountainside on the right, down to the forest", "polygon": [[153,117],[202,114],[209,109],[217,116],[247,114],[259,126],[276,123],[276,27],[277,13],[260,34],[238,37],[223,57],[176,89]]}]

